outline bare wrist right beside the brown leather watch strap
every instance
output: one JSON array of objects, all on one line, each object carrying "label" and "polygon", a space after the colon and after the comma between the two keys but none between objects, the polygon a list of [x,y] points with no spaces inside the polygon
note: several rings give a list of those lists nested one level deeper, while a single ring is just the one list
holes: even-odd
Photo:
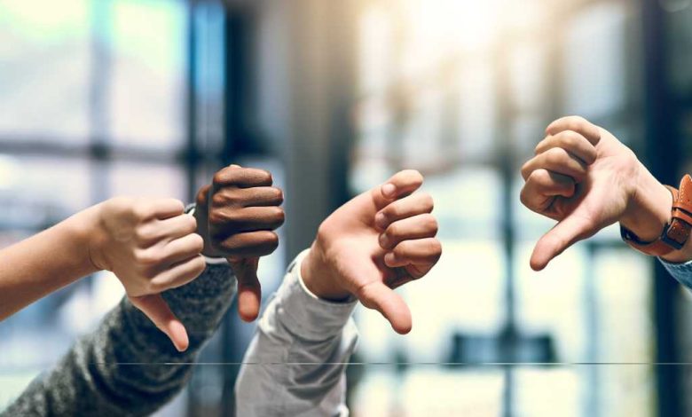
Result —
[{"label": "bare wrist right beside the brown leather watch strap", "polygon": [[[641,165],[641,163],[640,163]],[[671,221],[672,194],[641,165],[620,224],[643,241],[657,240]]]}]

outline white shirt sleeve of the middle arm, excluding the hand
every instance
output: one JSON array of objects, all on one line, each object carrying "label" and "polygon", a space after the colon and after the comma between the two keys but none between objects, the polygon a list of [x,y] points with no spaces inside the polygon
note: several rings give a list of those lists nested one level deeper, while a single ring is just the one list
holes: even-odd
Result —
[{"label": "white shirt sleeve of the middle arm, excluding the hand", "polygon": [[288,267],[260,319],[235,387],[237,415],[347,416],[344,371],[358,342],[350,318],[356,302],[329,303]]}]

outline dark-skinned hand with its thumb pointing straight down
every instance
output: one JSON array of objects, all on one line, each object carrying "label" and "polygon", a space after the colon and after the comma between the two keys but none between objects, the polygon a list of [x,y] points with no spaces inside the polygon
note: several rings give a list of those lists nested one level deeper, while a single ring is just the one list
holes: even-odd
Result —
[{"label": "dark-skinned hand with its thumb pointing straight down", "polygon": [[198,232],[203,254],[225,257],[238,279],[240,318],[257,318],[262,288],[257,279],[259,257],[279,246],[275,229],[284,223],[283,193],[271,186],[271,174],[238,165],[216,172],[211,185],[197,194]]}]

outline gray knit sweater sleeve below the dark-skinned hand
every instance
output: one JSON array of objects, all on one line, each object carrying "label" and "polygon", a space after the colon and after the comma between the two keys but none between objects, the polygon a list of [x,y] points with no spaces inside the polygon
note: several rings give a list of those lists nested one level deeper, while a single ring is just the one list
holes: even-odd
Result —
[{"label": "gray knit sweater sleeve below the dark-skinned hand", "polygon": [[96,331],[76,342],[2,414],[153,413],[185,387],[192,363],[231,305],[235,287],[229,266],[209,265],[200,278],[164,294],[190,336],[190,347],[182,353],[124,298]]}]

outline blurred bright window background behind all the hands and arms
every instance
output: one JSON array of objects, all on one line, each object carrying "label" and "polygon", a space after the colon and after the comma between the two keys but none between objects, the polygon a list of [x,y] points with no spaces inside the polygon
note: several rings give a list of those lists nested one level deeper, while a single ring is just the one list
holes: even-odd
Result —
[{"label": "blurred bright window background behind all the hands and arms", "polygon": [[[0,0],[0,243],[263,167],[289,219],[267,300],[321,219],[420,169],[444,256],[400,290],[411,334],[356,312],[353,415],[688,415],[688,292],[614,228],[531,272],[551,222],[518,172],[581,114],[677,185],[690,67],[690,0]],[[0,410],[121,296],[98,274],[0,323]],[[230,311],[201,361],[238,363],[253,332]],[[159,415],[232,413],[237,371],[197,366]]]}]

